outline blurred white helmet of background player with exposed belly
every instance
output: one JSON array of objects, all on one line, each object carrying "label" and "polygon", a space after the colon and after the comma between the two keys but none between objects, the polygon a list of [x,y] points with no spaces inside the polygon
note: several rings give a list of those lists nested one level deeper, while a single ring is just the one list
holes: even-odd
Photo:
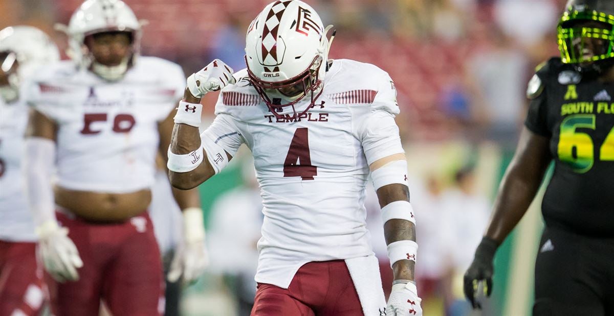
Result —
[{"label": "blurred white helmet of background player with exposed belly", "polygon": [[[142,23],[121,0],[87,0],[72,13],[68,27],[58,25],[58,29],[68,34],[67,54],[72,60],[101,78],[114,81],[123,78],[139,55]],[[117,66],[104,66],[97,62],[84,42],[87,36],[109,31],[130,32],[132,37],[130,52]]]}]

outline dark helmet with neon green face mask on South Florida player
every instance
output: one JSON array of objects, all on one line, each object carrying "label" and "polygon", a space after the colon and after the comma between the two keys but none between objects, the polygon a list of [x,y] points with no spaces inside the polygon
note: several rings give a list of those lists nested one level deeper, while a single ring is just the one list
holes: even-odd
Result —
[{"label": "dark helmet with neon green face mask on South Florida player", "polygon": [[558,24],[565,64],[601,73],[614,65],[614,0],[570,0]]}]

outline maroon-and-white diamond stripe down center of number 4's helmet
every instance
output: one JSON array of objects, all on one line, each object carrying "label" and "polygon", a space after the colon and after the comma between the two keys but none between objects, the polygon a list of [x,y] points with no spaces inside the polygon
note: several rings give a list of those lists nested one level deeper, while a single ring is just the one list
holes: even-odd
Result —
[{"label": "maroon-and-white diamond stripe down center of number 4's helmet", "polygon": [[266,21],[262,31],[262,63],[268,66],[279,64],[277,56],[277,34],[279,23],[286,7],[292,2],[276,1],[266,14]]}]

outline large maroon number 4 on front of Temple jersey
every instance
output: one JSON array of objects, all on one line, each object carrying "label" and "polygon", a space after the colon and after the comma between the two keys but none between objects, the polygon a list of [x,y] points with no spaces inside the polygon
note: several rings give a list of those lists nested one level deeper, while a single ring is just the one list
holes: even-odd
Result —
[{"label": "large maroon number 4 on front of Temple jersey", "polygon": [[317,176],[317,167],[311,165],[307,127],[300,127],[294,132],[284,162],[284,176],[300,176],[303,180],[313,180]]}]

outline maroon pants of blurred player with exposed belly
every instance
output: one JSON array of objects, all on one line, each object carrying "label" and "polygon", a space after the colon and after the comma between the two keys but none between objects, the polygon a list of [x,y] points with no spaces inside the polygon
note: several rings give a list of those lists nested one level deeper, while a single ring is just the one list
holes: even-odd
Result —
[{"label": "maroon pants of blurred player with exposed belly", "polygon": [[76,282],[45,276],[54,315],[98,315],[101,299],[114,316],[160,315],[162,265],[147,212],[111,224],[56,215],[69,229],[83,267]]}]

